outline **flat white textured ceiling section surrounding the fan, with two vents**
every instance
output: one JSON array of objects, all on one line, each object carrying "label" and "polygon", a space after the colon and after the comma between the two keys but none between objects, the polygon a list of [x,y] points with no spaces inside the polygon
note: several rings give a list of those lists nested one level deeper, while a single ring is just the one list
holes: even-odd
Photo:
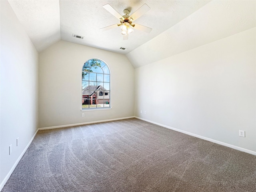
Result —
[{"label": "flat white textured ceiling section surrounding the fan, with two vents", "polygon": [[[104,50],[126,54],[164,32],[180,20],[204,6],[208,1],[60,1],[60,34],[62,40],[76,42]],[[128,40],[123,40],[120,28],[100,32],[100,28],[117,24],[119,20],[102,6],[110,4],[121,15],[124,9],[132,14],[144,3],[150,10],[135,23],[148,26],[150,34],[134,30]],[[84,36],[84,40],[74,39],[72,34]],[[127,50],[120,50],[120,47]]]}]

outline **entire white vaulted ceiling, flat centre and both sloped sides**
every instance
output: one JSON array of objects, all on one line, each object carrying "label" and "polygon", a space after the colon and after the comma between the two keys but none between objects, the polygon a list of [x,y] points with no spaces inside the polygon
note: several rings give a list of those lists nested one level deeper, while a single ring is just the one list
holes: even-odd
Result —
[{"label": "entire white vaulted ceiling, flat centre and both sloped sides", "polygon": [[[126,54],[134,67],[225,38],[256,26],[255,1],[203,0],[9,0],[38,52],[59,40]],[[136,23],[152,28],[134,30],[123,40],[118,23],[102,6],[121,15],[143,4],[151,9]],[[72,34],[84,36],[74,38]],[[120,47],[126,48],[121,50]],[[157,55],[156,55],[157,54]],[[143,56],[142,56],[143,55]]]}]

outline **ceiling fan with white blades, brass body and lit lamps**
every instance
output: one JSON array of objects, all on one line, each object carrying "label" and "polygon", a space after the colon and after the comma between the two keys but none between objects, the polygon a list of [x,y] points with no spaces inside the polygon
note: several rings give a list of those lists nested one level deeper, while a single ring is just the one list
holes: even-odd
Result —
[{"label": "ceiling fan with white blades, brass body and lit lamps", "polygon": [[136,12],[134,12],[131,16],[129,16],[130,11],[125,9],[123,11],[123,16],[121,16],[110,4],[106,4],[103,6],[108,12],[110,12],[112,15],[114,15],[116,18],[118,18],[118,20],[120,20],[120,24],[114,24],[114,25],[110,25],[104,28],[101,28],[100,31],[106,31],[118,26],[121,26],[121,34],[124,35],[124,40],[128,39],[128,34],[131,34],[135,29],[150,33],[152,28],[140,25],[140,24],[136,24],[136,23],[132,23],[133,21],[135,21],[136,19],[138,19],[140,16],[142,16],[143,14],[145,14],[148,10],[150,10],[150,7],[147,4],[142,5],[138,10],[136,10]]}]

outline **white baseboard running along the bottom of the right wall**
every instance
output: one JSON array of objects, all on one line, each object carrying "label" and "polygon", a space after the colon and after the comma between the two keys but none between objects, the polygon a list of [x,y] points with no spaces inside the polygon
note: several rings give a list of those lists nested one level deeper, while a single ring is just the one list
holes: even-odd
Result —
[{"label": "white baseboard running along the bottom of the right wall", "polygon": [[181,132],[181,133],[184,133],[184,134],[187,134],[187,135],[191,135],[191,136],[203,139],[203,140],[207,140],[207,141],[210,141],[210,142],[213,142],[213,143],[216,143],[216,144],[220,144],[220,145],[223,145],[223,146],[226,146],[226,147],[230,147],[232,149],[236,149],[236,150],[239,150],[239,151],[242,151],[242,152],[246,152],[246,153],[249,153],[249,154],[252,154],[252,155],[256,155],[255,151],[244,149],[244,148],[241,148],[241,147],[238,147],[238,146],[234,146],[234,145],[231,145],[231,144],[228,144],[228,143],[224,143],[224,142],[221,142],[221,141],[210,139],[210,138],[200,136],[200,135],[197,135],[197,134],[194,134],[194,133],[190,133],[190,132],[187,132],[187,131],[183,131],[183,130],[180,130],[180,129],[176,129],[176,128],[173,128],[173,127],[170,127],[170,126],[167,126],[167,125],[163,125],[163,124],[160,124],[160,123],[156,123],[156,122],[153,122],[153,121],[150,121],[150,120],[146,120],[146,119],[143,119],[143,118],[140,118],[140,117],[135,117],[135,118],[146,121],[146,122],[150,122],[150,123],[153,123],[153,124],[156,124],[156,125],[159,125],[159,126],[162,126],[162,127],[174,130],[174,131],[178,131],[178,132]]}]

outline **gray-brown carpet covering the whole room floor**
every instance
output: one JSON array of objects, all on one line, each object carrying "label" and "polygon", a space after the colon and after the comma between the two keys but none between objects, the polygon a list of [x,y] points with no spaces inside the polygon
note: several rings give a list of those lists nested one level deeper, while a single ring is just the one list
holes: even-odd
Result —
[{"label": "gray-brown carpet covering the whole room floor", "polygon": [[2,192],[256,192],[256,156],[135,118],[39,131]]}]

